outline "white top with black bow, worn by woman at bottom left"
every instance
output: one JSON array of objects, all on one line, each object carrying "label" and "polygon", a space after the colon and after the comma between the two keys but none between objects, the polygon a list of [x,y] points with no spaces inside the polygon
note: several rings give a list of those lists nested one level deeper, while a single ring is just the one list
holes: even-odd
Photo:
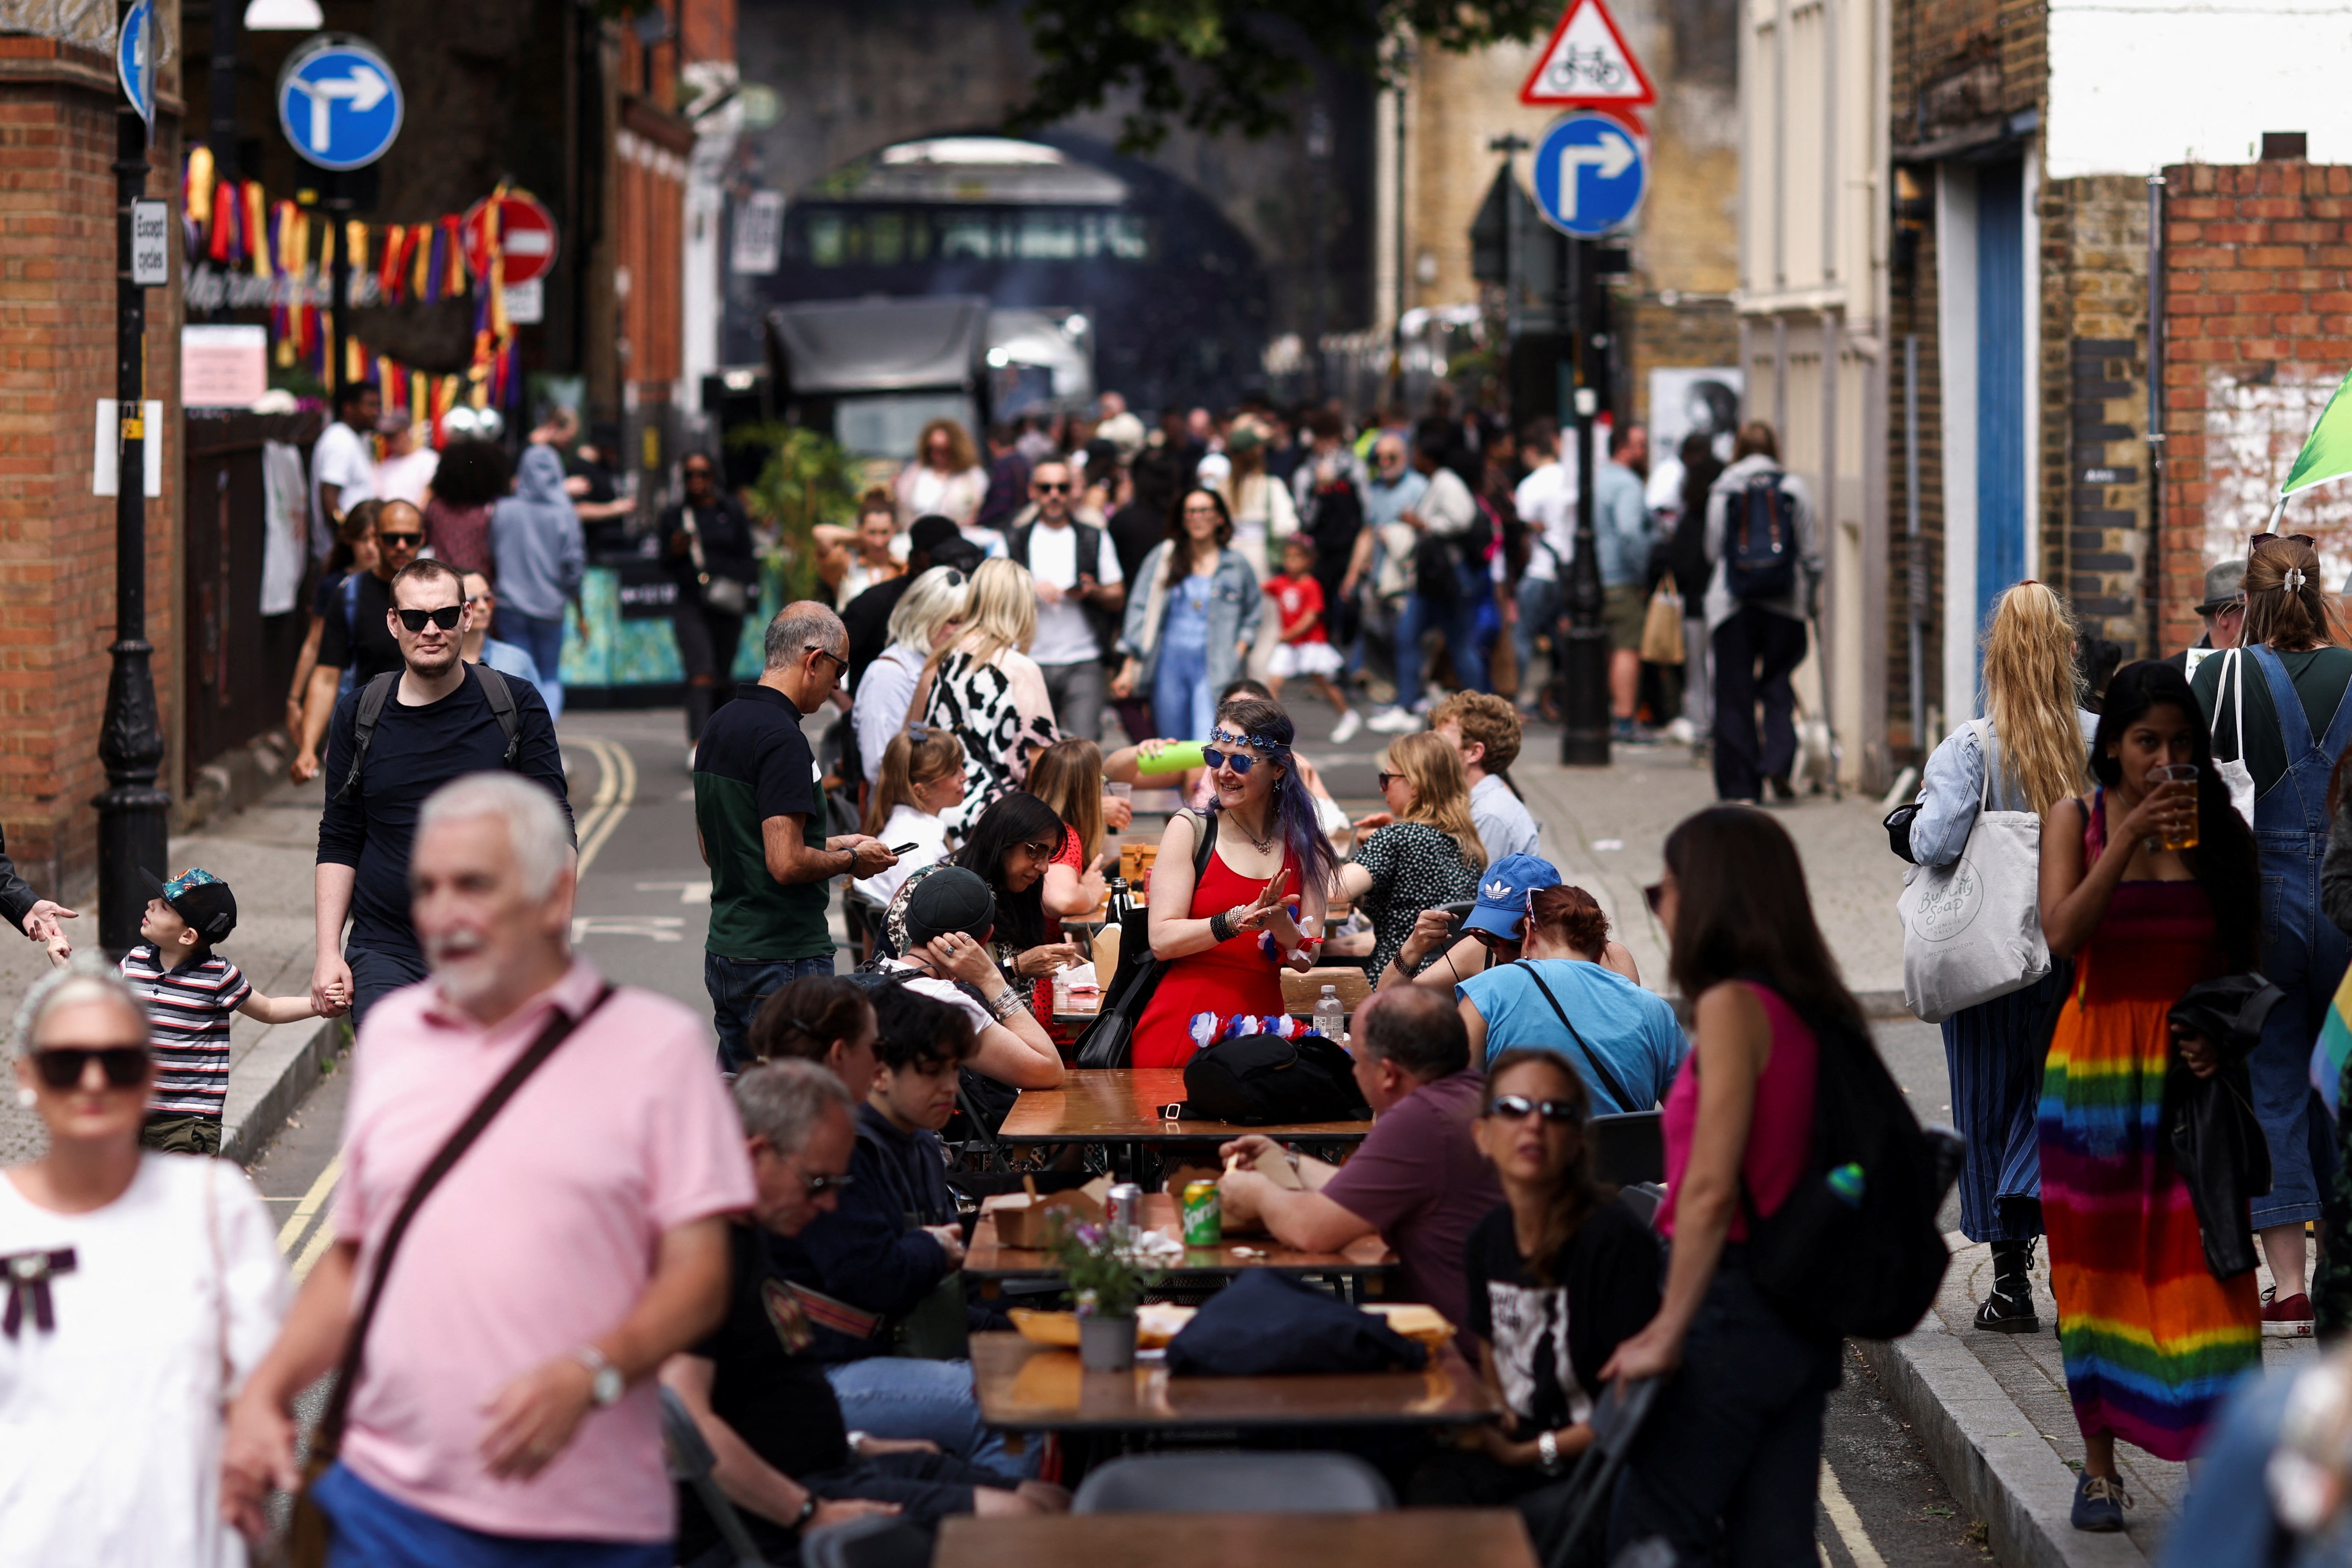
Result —
[{"label": "white top with black bow, worn by woman at bottom left", "polygon": [[221,1521],[230,1387],[278,1338],[287,1267],[268,1211],[221,1159],[141,1154],[106,1208],[52,1213],[0,1175],[0,1258],[73,1251],[52,1328],[0,1335],[0,1566],[238,1568]]}]

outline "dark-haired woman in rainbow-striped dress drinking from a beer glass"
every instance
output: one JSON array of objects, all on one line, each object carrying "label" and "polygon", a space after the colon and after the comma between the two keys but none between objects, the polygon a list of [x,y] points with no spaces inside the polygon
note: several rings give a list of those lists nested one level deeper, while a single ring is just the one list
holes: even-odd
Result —
[{"label": "dark-haired woman in rainbow-striped dress drinking from a beer glass", "polygon": [[[2192,764],[2194,783],[2150,776],[2166,764]],[[2086,1450],[2074,1528],[2122,1530],[2114,1439],[2190,1458],[2263,1356],[2253,1272],[2213,1279],[2159,1150],[2176,1051],[2211,1072],[2211,1046],[2173,1041],[2166,1013],[2197,980],[2253,969],[2263,917],[2253,835],[2178,670],[2117,672],[2091,771],[2093,797],[2042,820],[2042,931],[2074,959],[2042,1079],[2042,1218]]]}]

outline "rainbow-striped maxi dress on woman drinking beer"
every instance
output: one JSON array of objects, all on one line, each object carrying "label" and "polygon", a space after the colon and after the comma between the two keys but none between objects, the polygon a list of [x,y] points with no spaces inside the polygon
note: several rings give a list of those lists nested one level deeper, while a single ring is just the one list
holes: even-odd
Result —
[{"label": "rainbow-striped maxi dress on woman drinking beer", "polygon": [[[2105,792],[2084,853],[2105,849]],[[2220,973],[2194,882],[2124,882],[2074,959],[2042,1077],[2042,1220],[2074,1420],[2159,1460],[2197,1450],[2263,1359],[2253,1272],[2213,1279],[2187,1185],[2159,1150],[2164,1016]]]}]

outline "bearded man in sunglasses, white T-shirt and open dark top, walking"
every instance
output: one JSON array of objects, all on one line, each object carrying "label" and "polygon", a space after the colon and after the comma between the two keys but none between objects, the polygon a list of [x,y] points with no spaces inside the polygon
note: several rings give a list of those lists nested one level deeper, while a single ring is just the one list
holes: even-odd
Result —
[{"label": "bearded man in sunglasses, white T-shirt and open dark top, walking", "polygon": [[1120,639],[1127,581],[1103,520],[1075,515],[1077,480],[1061,458],[1030,473],[1030,508],[1014,520],[1007,552],[1037,585],[1030,658],[1054,698],[1063,736],[1103,738],[1103,654]]}]

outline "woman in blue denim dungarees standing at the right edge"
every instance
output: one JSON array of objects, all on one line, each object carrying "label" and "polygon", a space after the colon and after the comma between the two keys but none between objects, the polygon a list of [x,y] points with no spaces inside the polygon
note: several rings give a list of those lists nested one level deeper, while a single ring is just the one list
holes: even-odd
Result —
[{"label": "woman in blue denim dungarees standing at the right edge", "polygon": [[2286,1001],[2270,1011],[2263,1044],[2246,1058],[2253,1114],[2270,1143],[2270,1197],[2253,1201],[2253,1227],[2274,1281],[2263,1333],[2274,1335],[2312,1333],[2303,1222],[2319,1218],[2319,1194],[2336,1171],[2336,1140],[2312,1098],[2310,1067],[2312,1041],[2352,957],[2345,933],[2319,912],[2328,773],[2352,745],[2352,649],[2336,646],[2336,630],[2312,541],[2258,534],[2246,559],[2241,651],[2209,656],[2192,682],[2213,755],[2241,759],[2253,773],[2253,842],[2263,884],[2274,889],[2263,898],[2263,976]]}]

